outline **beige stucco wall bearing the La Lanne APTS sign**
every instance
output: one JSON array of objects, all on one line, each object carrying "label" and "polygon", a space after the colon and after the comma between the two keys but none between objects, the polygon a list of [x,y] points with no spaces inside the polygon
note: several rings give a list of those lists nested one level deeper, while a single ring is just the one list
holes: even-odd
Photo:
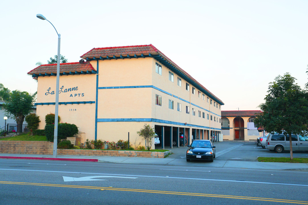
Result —
[{"label": "beige stucco wall bearing the La Lanne APTS sign", "polygon": [[[68,75],[59,78],[59,102],[95,101],[95,74]],[[62,88],[63,86],[63,88]],[[55,102],[56,77],[38,77],[38,103]],[[61,89],[62,88],[62,89]],[[75,88],[73,91],[65,89]],[[39,129],[45,127],[45,116],[55,113],[55,105],[37,105],[40,117]],[[95,103],[93,104],[59,104],[59,122],[76,124],[79,136],[94,139]]]}]

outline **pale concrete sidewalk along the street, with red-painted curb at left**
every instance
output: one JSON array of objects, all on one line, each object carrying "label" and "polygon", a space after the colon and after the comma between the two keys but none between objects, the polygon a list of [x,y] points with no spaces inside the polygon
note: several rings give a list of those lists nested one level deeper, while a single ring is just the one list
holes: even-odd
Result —
[{"label": "pale concrete sidewalk along the street, with red-painted curb at left", "polygon": [[[231,147],[232,148],[232,147]],[[223,151],[221,151],[222,153]],[[219,154],[217,152],[217,154]],[[172,156],[172,155],[171,155]],[[83,161],[83,162],[107,162],[121,164],[156,164],[173,166],[196,166],[196,167],[217,167],[217,168],[243,168],[243,169],[265,169],[265,170],[288,170],[305,169],[308,171],[308,164],[303,163],[276,163],[276,162],[247,162],[232,160],[214,160],[214,162],[190,161],[186,159],[173,158],[144,158],[144,157],[115,157],[115,156],[73,156],[58,155],[25,155],[25,154],[3,154],[0,159],[27,159],[27,160],[62,160],[62,161]]]}]

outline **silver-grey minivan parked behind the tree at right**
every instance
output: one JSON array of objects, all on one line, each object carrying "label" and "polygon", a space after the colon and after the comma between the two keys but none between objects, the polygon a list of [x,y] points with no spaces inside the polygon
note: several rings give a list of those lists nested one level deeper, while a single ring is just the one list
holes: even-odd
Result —
[{"label": "silver-grey minivan parked behind the tree at right", "polygon": [[[308,151],[308,137],[302,135],[291,135],[293,151]],[[290,150],[290,138],[283,134],[270,134],[266,139],[266,149],[278,153]]]}]

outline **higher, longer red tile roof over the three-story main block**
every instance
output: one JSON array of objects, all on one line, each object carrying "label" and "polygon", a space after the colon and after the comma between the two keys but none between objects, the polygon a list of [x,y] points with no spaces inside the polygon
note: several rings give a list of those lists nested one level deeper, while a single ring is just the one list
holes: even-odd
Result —
[{"label": "higher, longer red tile roof over the three-story main block", "polygon": [[201,85],[198,81],[196,81],[193,77],[191,77],[186,71],[181,69],[178,65],[176,65],[173,61],[171,61],[164,53],[160,52],[155,46],[150,45],[130,45],[130,46],[119,46],[119,47],[104,47],[104,48],[93,48],[87,53],[80,56],[83,59],[93,58],[93,57],[106,57],[106,56],[120,56],[120,55],[134,55],[134,54],[160,54],[164,59],[167,59],[170,63],[172,63],[178,70],[184,73],[185,76],[195,81],[201,88],[205,89],[210,95],[220,101],[220,104],[224,104],[218,97],[216,97],[213,93],[211,93],[208,89],[206,89],[203,85]]}]

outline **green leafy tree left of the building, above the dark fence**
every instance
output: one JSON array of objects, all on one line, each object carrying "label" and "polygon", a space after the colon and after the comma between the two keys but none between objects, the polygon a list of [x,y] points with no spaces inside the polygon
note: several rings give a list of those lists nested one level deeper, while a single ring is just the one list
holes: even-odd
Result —
[{"label": "green leafy tree left of the building, above the dark fence", "polygon": [[8,116],[13,116],[11,118],[15,118],[17,124],[22,124],[25,116],[29,115],[32,111],[35,95],[36,93],[31,95],[28,92],[14,90],[10,94],[9,100],[3,104],[6,114]]}]

